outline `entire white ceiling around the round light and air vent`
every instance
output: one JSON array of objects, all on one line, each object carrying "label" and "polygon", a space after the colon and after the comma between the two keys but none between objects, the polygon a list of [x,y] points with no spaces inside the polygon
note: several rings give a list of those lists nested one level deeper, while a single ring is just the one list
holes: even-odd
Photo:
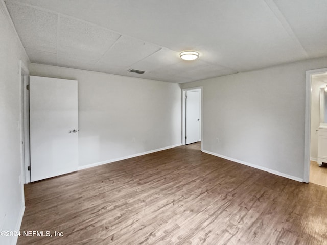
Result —
[{"label": "entire white ceiling around the round light and air vent", "polygon": [[326,0],[5,2],[33,63],[184,83],[327,56]]}]

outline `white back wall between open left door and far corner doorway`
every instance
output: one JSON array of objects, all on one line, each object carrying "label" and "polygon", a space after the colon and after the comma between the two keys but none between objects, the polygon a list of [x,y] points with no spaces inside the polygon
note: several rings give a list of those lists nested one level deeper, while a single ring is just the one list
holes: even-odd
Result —
[{"label": "white back wall between open left door and far corner doorway", "polygon": [[78,80],[80,166],[181,144],[178,84],[39,64],[29,70]]}]

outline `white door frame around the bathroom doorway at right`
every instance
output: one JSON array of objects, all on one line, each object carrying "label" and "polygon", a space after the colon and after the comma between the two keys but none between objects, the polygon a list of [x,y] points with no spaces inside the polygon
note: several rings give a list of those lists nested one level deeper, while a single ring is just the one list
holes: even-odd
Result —
[{"label": "white door frame around the bathroom doorway at right", "polygon": [[310,140],[311,140],[311,76],[325,73],[327,68],[306,71],[306,102],[305,102],[305,162],[303,182],[309,183],[310,171]]}]

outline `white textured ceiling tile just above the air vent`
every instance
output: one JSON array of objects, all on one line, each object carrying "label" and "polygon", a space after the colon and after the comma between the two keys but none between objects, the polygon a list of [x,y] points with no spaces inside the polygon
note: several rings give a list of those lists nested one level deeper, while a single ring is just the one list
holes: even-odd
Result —
[{"label": "white textured ceiling tile just above the air vent", "polygon": [[154,44],[121,36],[100,61],[107,65],[131,66],[160,49]]}]

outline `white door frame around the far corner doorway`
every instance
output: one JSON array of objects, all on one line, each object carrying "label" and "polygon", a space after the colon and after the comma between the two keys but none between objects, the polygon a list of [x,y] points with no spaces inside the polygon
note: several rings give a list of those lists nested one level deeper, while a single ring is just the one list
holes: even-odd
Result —
[{"label": "white door frame around the far corner doorway", "polygon": [[201,124],[201,151],[203,151],[203,110],[202,110],[202,105],[203,105],[203,87],[194,87],[194,88],[185,88],[182,89],[182,145],[185,145],[185,124],[186,124],[186,101],[185,101],[185,95],[186,95],[186,91],[189,90],[194,90],[194,89],[200,89],[201,90],[201,101],[200,101],[200,108],[201,108],[201,113],[200,113],[200,124]]}]

